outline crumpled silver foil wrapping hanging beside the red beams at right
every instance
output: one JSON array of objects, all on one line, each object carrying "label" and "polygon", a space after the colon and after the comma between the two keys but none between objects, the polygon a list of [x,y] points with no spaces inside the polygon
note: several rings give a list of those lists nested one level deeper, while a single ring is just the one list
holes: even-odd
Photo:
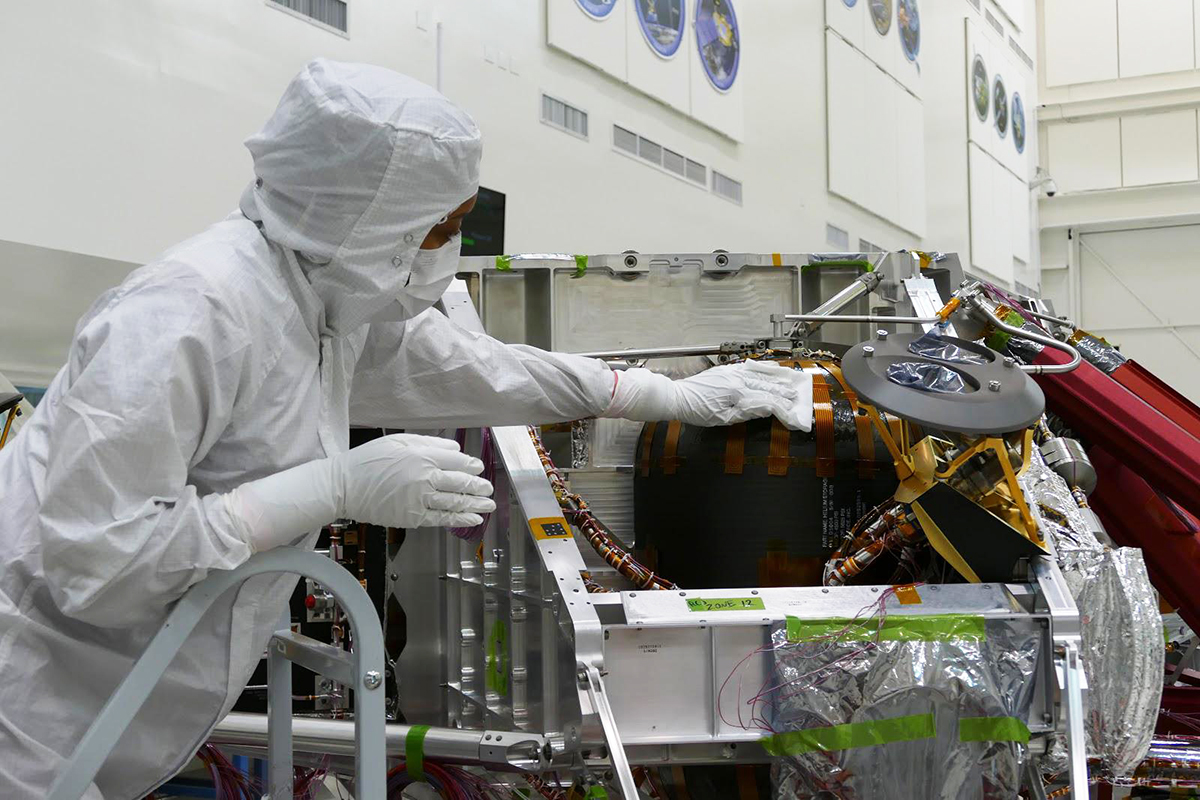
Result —
[{"label": "crumpled silver foil wrapping hanging beside the red beams at right", "polygon": [[[1032,453],[1020,483],[1079,607],[1088,752],[1109,774],[1132,775],[1154,732],[1164,662],[1158,599],[1141,551],[1105,547],[1096,515],[1080,509],[1040,452]],[[1060,771],[1057,752],[1051,745],[1044,771]]]}]

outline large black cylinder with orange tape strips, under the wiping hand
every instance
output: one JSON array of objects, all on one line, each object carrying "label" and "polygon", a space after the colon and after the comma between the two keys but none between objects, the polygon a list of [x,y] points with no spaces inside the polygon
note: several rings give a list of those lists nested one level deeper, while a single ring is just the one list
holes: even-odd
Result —
[{"label": "large black cylinder with orange tape strips, under the wiping hand", "polygon": [[634,515],[648,566],[685,589],[821,584],[845,533],[896,488],[887,446],[830,367],[808,367],[808,433],[770,419],[643,427]]}]

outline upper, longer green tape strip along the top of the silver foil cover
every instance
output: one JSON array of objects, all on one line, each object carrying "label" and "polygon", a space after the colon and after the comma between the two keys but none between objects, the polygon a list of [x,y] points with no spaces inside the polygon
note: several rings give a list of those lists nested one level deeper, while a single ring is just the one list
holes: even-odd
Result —
[{"label": "upper, longer green tape strip along the top of the silver foil cover", "polygon": [[986,639],[983,616],[971,614],[892,615],[848,619],[798,619],[787,618],[788,642],[815,642],[838,639],[840,642],[954,642]]}]

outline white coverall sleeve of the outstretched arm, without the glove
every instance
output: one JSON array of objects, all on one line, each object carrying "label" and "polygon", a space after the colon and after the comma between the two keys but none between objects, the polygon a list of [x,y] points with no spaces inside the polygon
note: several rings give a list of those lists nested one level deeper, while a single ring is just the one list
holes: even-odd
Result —
[{"label": "white coverall sleeve of the outstretched arm, without the glove", "polygon": [[445,428],[566,422],[602,414],[612,371],[595,359],[504,344],[434,308],[374,323],[354,371],[350,423]]}]

